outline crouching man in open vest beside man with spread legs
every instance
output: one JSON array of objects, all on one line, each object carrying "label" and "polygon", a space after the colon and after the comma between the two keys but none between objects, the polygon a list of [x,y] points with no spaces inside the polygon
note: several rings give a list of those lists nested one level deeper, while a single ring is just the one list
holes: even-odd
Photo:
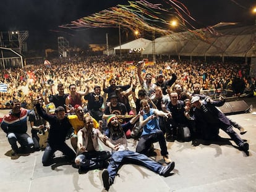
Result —
[{"label": "crouching man in open vest beside man with spread legs", "polygon": [[77,133],[77,157],[75,164],[79,166],[79,173],[93,169],[108,167],[109,151],[100,151],[98,139],[106,144],[105,135],[93,125],[93,117],[87,116],[83,119],[84,127]]}]

